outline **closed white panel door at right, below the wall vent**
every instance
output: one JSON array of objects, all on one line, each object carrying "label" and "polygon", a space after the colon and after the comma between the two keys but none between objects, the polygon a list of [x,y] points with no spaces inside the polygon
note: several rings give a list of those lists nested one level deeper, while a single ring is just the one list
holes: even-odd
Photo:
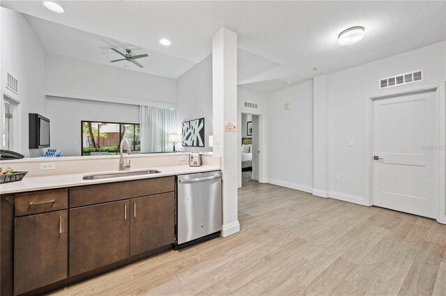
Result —
[{"label": "closed white panel door at right, below the wall vent", "polygon": [[435,92],[374,100],[374,205],[437,216],[438,132]]}]

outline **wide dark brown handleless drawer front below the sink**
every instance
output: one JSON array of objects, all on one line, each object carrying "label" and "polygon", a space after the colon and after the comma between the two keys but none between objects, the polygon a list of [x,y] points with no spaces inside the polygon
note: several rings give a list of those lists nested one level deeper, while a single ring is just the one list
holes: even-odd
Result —
[{"label": "wide dark brown handleless drawer front below the sink", "polygon": [[70,208],[173,192],[175,177],[106,183],[70,188]]}]

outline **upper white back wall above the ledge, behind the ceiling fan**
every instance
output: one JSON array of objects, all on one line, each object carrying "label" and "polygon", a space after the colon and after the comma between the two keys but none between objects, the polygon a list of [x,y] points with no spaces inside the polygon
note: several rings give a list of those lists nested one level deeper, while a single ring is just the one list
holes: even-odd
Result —
[{"label": "upper white back wall above the ledge, behind the ceiling fan", "polygon": [[61,98],[176,107],[176,80],[47,53],[45,94]]}]

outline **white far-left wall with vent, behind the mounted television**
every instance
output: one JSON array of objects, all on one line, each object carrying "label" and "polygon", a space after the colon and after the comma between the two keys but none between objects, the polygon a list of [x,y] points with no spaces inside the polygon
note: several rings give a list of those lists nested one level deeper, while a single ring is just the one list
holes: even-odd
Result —
[{"label": "white far-left wall with vent, behind the mounted television", "polygon": [[[38,155],[29,150],[28,114],[46,114],[44,95],[45,52],[22,13],[0,8],[1,89],[21,102],[20,148],[26,157]],[[18,79],[18,94],[6,89],[7,73]]]}]

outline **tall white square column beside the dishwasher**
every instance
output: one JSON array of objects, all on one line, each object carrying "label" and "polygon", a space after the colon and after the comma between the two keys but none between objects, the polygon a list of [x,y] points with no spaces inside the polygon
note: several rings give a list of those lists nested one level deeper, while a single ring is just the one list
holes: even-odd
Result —
[{"label": "tall white square column beside the dishwasher", "polygon": [[[237,192],[237,131],[225,132],[225,123],[237,123],[237,34],[222,28],[213,36],[214,155],[222,157],[223,231],[226,237],[240,231]],[[240,128],[239,126],[236,126]]]}]

